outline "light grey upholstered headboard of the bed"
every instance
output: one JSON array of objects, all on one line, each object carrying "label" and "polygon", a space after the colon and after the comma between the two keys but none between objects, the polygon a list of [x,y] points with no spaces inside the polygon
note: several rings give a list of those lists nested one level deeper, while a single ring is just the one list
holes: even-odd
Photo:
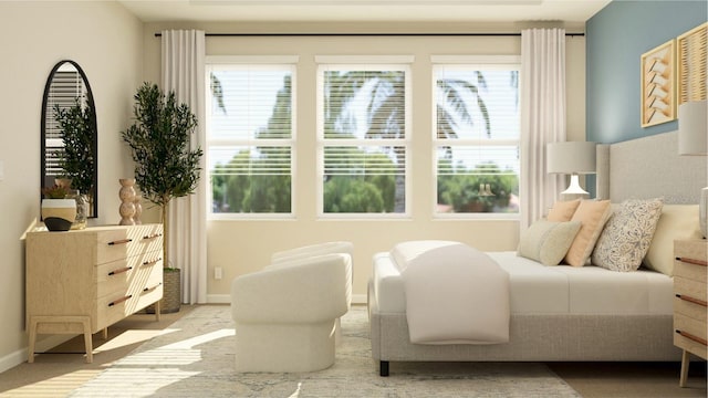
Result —
[{"label": "light grey upholstered headboard of the bed", "polygon": [[678,155],[677,132],[597,145],[597,199],[696,205],[706,186],[708,157]]}]

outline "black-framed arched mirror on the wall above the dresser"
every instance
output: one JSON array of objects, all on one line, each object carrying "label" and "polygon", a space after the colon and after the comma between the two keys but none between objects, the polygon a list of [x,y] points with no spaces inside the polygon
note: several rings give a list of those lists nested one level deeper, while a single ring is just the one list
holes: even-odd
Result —
[{"label": "black-framed arched mirror on the wall above the dresser", "polygon": [[41,188],[56,179],[88,198],[87,217],[98,210],[96,108],[86,74],[74,61],[60,61],[49,74],[42,100]]}]

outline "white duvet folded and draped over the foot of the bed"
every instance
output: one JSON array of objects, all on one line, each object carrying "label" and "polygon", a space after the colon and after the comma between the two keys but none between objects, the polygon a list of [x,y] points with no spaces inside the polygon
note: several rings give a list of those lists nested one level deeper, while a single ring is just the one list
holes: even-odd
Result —
[{"label": "white duvet folded and draped over the foot of the bed", "polygon": [[464,243],[416,241],[391,255],[406,292],[410,342],[509,342],[509,274],[486,253]]}]

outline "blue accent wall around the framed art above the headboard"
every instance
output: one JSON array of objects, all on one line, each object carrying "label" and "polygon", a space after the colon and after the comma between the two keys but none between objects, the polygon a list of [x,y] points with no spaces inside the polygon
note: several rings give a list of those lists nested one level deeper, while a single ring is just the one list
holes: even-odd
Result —
[{"label": "blue accent wall around the framed art above the headboard", "polygon": [[642,128],[639,60],[645,52],[708,20],[708,1],[614,0],[585,24],[585,135],[617,143],[677,129],[676,121]]}]

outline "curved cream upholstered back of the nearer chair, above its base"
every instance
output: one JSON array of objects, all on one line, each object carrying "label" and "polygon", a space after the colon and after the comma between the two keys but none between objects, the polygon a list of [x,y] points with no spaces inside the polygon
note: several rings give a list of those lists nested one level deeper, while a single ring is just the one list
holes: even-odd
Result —
[{"label": "curved cream upholstered back of the nearer chair, above its base", "polygon": [[295,260],[235,279],[231,312],[243,323],[321,322],[346,313],[351,285],[348,254]]}]

